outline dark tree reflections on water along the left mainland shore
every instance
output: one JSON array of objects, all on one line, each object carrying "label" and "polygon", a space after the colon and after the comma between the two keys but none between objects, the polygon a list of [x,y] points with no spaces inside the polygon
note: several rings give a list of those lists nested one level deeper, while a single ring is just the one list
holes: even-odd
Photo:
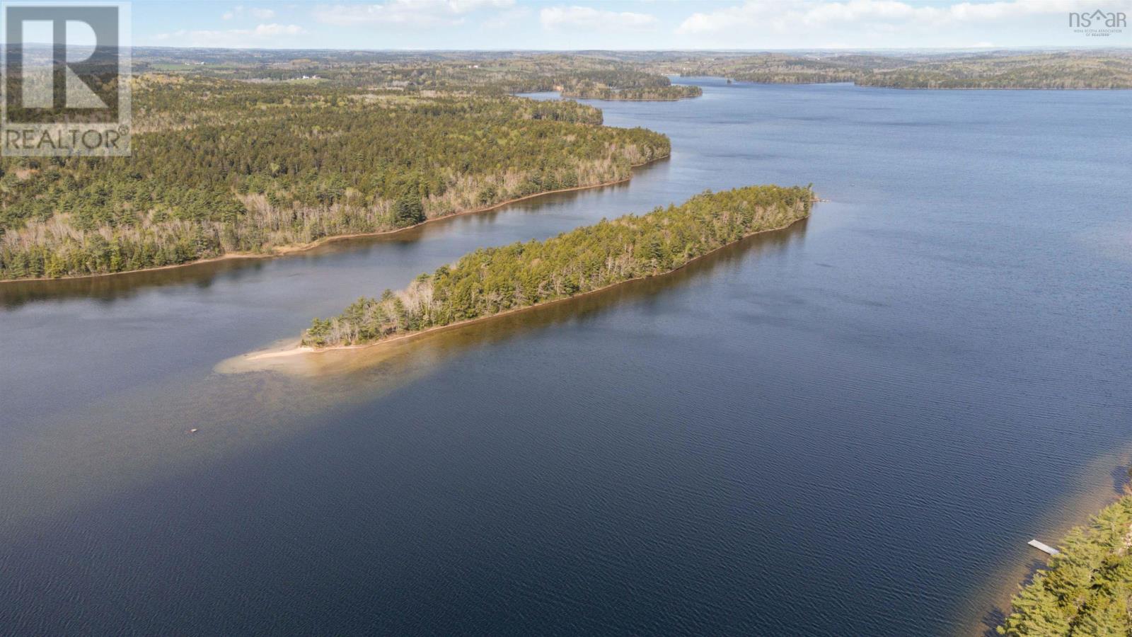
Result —
[{"label": "dark tree reflections on water along the left mainland shore", "polygon": [[[645,167],[634,169],[634,175],[641,175],[662,164],[666,160],[658,160]],[[278,255],[269,258],[224,258],[217,261],[204,261],[199,263],[188,263],[177,267],[163,270],[142,270],[138,272],[121,272],[101,277],[84,277],[74,279],[55,279],[40,281],[0,281],[0,307],[15,309],[27,303],[43,300],[62,300],[70,298],[91,298],[103,301],[112,301],[135,296],[136,294],[165,286],[196,286],[208,288],[220,278],[238,281],[241,278],[259,273],[273,261],[317,261],[332,255],[354,253],[365,256],[371,250],[381,246],[413,244],[430,237],[451,233],[455,230],[456,223],[465,223],[474,220],[475,223],[491,223],[503,214],[514,214],[516,212],[538,214],[552,210],[556,205],[569,204],[578,197],[593,193],[617,193],[629,187],[629,181],[611,184],[598,188],[586,188],[583,190],[571,190],[566,193],[550,193],[522,202],[515,202],[497,209],[457,214],[435,219],[422,226],[406,228],[398,232],[383,235],[369,235],[362,237],[349,237],[329,240],[309,250],[297,252],[286,255]],[[646,212],[637,210],[625,210],[621,213]]]}]

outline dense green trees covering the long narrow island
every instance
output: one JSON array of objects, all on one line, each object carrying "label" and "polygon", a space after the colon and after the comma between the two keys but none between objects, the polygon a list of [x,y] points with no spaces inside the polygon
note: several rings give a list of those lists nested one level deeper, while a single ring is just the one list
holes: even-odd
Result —
[{"label": "dense green trees covering the long narrow island", "polygon": [[662,274],[807,216],[813,198],[808,186],[705,192],[679,206],[602,220],[544,241],[478,249],[401,291],[362,297],[338,316],[315,318],[302,343],[371,342]]}]

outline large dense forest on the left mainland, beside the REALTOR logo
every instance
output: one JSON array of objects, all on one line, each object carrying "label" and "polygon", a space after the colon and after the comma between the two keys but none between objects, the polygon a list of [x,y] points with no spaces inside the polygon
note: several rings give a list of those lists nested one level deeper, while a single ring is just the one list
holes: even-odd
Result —
[{"label": "large dense forest on the left mainland, beside the REALTOR logo", "polygon": [[576,102],[149,74],[129,158],[0,160],[0,279],[121,272],[621,180],[663,135]]}]

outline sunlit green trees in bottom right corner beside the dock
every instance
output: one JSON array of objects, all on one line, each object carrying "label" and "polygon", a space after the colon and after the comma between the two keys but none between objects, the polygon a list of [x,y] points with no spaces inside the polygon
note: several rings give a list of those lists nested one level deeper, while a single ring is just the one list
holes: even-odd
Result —
[{"label": "sunlit green trees in bottom right corner beside the dock", "polygon": [[1074,528],[1011,603],[998,634],[1015,637],[1132,635],[1132,495]]}]

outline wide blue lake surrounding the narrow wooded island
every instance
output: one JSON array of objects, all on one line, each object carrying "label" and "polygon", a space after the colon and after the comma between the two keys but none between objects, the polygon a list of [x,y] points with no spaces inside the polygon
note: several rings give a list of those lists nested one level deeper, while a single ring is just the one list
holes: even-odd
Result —
[{"label": "wide blue lake surrounding the narrow wooded island", "polygon": [[[1126,478],[1132,93],[679,82],[593,102],[671,136],[627,184],[0,286],[0,632],[993,626],[1026,542]],[[477,247],[771,182],[829,201],[670,277],[217,367]]]}]

